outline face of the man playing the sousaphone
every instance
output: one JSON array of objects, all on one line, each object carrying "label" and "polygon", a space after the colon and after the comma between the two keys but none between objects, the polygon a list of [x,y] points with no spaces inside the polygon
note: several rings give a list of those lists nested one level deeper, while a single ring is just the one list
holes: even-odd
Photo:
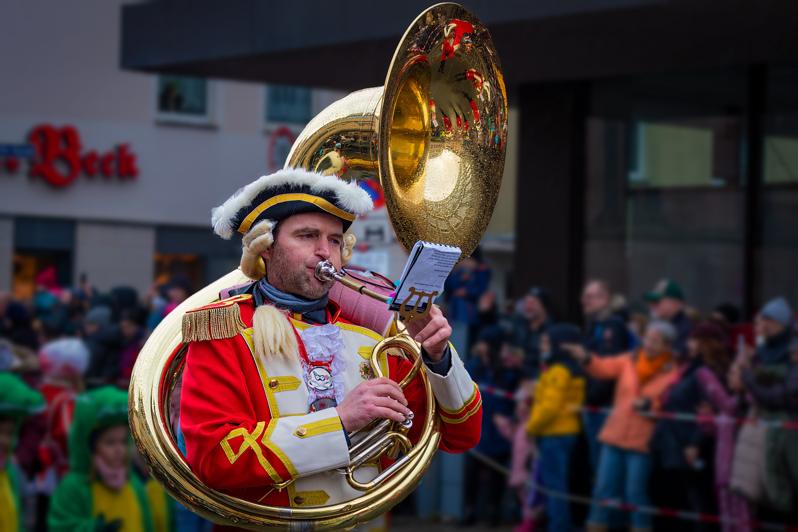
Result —
[{"label": "face of the man playing the sousaphone", "polygon": [[323,298],[334,281],[319,281],[316,265],[329,260],[341,270],[343,240],[343,222],[333,215],[303,212],[286,218],[275,242],[261,254],[271,286],[306,299]]}]

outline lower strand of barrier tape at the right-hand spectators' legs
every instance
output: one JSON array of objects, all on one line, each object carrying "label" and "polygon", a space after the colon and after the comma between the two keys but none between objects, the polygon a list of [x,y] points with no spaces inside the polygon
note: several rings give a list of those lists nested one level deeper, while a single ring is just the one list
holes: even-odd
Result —
[{"label": "lower strand of barrier tape at the right-hand spectators' legs", "polygon": [[[503,475],[510,476],[510,470],[507,467],[504,467],[502,464],[496,462],[496,460],[490,458],[489,456],[482,454],[480,451],[476,451],[476,449],[470,449],[468,451],[468,454],[472,455],[474,458],[480,460],[481,462],[488,464],[488,466],[492,467],[496,471],[499,471]],[[684,519],[685,521],[727,523],[729,525],[745,525],[745,526],[750,526],[751,528],[757,528],[762,530],[778,530],[779,532],[798,532],[798,526],[783,525],[777,522],[742,521],[740,519],[727,518],[721,515],[699,514],[697,512],[674,510],[672,508],[658,508],[655,506],[638,506],[634,504],[626,504],[625,502],[617,500],[590,499],[589,497],[582,497],[580,495],[571,495],[570,493],[551,491],[546,487],[531,482],[531,480],[527,481],[527,486],[540,491],[541,493],[547,495],[548,497],[555,497],[556,499],[566,499],[572,502],[579,502],[580,504],[586,504],[588,506],[597,504],[599,506],[608,506],[610,508],[617,508],[618,510],[623,510],[628,512],[642,512],[643,514],[661,515],[662,517]]]}]

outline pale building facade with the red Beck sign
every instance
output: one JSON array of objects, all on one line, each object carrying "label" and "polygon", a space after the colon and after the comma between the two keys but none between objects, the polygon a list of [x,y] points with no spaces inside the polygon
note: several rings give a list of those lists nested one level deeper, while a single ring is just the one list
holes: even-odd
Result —
[{"label": "pale building facade with the red Beck sign", "polygon": [[282,167],[310,117],[346,94],[123,71],[120,3],[6,6],[0,290],[18,298],[47,266],[61,286],[140,295],[172,274],[200,288],[233,270],[240,238],[211,233],[211,207]]}]

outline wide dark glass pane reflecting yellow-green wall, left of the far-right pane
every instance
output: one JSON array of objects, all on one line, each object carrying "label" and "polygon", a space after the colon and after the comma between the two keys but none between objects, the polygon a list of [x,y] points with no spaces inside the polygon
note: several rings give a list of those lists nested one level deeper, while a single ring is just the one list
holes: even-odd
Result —
[{"label": "wide dark glass pane reflecting yellow-green wall, left of the far-right pane", "polygon": [[595,81],[584,273],[633,309],[662,278],[704,314],[744,302],[745,87],[734,69]]}]

